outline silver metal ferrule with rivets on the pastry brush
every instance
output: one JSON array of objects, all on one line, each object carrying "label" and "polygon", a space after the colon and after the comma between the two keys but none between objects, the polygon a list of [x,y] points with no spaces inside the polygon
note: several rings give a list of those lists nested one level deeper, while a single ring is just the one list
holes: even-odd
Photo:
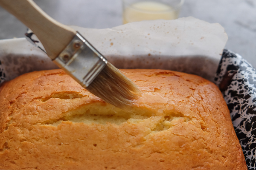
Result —
[{"label": "silver metal ferrule with rivets on the pastry brush", "polygon": [[108,64],[107,59],[79,32],[53,62],[84,88],[88,87]]}]

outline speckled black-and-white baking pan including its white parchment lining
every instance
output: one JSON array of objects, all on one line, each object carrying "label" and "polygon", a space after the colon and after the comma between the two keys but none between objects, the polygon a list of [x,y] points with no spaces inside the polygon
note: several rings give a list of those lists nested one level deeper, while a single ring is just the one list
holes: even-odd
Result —
[{"label": "speckled black-and-white baking pan including its white parchment lining", "polygon": [[[227,35],[219,24],[187,17],[100,30],[73,28],[117,68],[167,69],[215,82],[230,109],[248,169],[256,170],[256,70],[224,49]],[[40,42],[36,45],[44,50]],[[0,40],[0,84],[27,72],[57,68],[41,49],[26,38]]]}]

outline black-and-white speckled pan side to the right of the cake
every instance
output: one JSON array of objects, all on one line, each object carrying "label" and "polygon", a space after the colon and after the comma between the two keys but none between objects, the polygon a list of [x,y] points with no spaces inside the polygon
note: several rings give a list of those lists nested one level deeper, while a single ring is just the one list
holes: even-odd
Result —
[{"label": "black-and-white speckled pan side to the right of the cake", "polygon": [[227,102],[248,170],[256,170],[256,69],[224,50],[215,83]]}]

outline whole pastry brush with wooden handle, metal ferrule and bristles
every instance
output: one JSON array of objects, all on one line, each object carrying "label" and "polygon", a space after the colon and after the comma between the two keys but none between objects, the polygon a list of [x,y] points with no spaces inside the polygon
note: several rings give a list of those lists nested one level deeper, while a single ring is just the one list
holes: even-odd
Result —
[{"label": "whole pastry brush with wooden handle, metal ferrule and bristles", "polygon": [[120,108],[140,94],[79,32],[49,17],[32,0],[0,0],[0,6],[29,27],[53,62],[92,94]]}]

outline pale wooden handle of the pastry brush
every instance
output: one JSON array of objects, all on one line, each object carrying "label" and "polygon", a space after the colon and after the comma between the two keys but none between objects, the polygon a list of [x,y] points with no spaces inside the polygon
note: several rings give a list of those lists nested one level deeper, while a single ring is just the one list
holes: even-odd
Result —
[{"label": "pale wooden handle of the pastry brush", "polygon": [[36,34],[51,59],[55,59],[76,35],[73,28],[49,17],[32,0],[0,0],[0,6]]}]

